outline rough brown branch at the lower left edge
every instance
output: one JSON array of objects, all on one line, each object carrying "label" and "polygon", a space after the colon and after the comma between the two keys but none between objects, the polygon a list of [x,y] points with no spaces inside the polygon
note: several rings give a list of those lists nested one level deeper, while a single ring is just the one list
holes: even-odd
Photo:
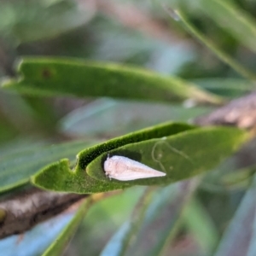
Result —
[{"label": "rough brown branch at the lower left edge", "polygon": [[20,234],[88,195],[26,189],[0,201],[0,238]]}]

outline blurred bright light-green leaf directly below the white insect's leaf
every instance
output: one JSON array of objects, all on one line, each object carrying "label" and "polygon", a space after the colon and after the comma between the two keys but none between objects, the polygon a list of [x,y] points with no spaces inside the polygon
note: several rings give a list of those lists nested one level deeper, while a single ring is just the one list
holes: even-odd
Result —
[{"label": "blurred bright light-green leaf directly below the white insect's leaf", "polygon": [[86,255],[100,255],[110,236],[130,218],[145,189],[142,186],[132,187],[94,203],[71,241],[71,250],[75,247],[78,252],[83,252],[86,248]]}]

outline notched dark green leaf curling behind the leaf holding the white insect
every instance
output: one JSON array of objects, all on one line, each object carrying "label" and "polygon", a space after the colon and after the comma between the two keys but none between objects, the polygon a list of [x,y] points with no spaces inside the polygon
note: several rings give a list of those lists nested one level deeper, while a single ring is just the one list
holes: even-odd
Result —
[{"label": "notched dark green leaf curling behind the leaf holding the white insect", "polygon": [[[32,177],[32,183],[42,189],[85,194],[129,187],[130,185],[127,185],[127,183],[106,183],[105,181],[96,180],[85,172],[85,168],[97,156],[103,153],[107,154],[113,148],[119,148],[128,143],[137,143],[155,137],[165,137],[193,128],[195,126],[187,124],[166,123],[133,132],[123,137],[114,138],[95,147],[86,148],[77,154],[78,162],[74,170],[70,169],[68,160],[64,159],[38,172]],[[102,169],[100,172],[102,172]]]}]

